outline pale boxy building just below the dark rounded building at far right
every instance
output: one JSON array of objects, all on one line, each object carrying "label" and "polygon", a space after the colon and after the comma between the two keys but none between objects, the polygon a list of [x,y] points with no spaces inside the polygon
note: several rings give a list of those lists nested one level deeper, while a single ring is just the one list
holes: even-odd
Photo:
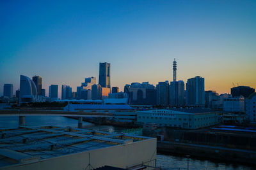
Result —
[{"label": "pale boxy building just below the dark rounded building at far right", "polygon": [[244,112],[244,97],[230,97],[223,101],[223,111]]}]

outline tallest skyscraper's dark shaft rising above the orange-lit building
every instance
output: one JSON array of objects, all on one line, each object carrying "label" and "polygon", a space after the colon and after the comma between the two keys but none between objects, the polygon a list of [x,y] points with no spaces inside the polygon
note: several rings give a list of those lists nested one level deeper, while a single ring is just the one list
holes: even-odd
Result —
[{"label": "tallest skyscraper's dark shaft rising above the orange-lit building", "polygon": [[110,88],[110,63],[100,62],[99,85]]}]

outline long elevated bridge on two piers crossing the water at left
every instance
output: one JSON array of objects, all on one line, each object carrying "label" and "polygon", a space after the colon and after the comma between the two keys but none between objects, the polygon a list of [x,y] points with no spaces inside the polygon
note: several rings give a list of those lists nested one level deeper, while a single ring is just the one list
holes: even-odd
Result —
[{"label": "long elevated bridge on two piers crossing the water at left", "polygon": [[113,113],[62,111],[62,110],[0,110],[0,117],[19,117],[19,125],[25,125],[26,116],[63,116],[78,117],[78,127],[83,126],[83,117],[113,117]]}]

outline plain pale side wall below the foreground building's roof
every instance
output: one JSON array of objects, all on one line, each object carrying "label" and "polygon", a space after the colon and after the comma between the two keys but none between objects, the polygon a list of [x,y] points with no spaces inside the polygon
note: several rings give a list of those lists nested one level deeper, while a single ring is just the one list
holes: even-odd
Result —
[{"label": "plain pale side wall below the foreground building's roof", "polygon": [[[93,168],[105,165],[127,168],[142,162],[148,162],[146,164],[149,166],[156,166],[156,138],[54,157],[35,163],[16,164],[3,169],[85,169],[89,164],[89,153]],[[93,169],[92,167],[90,169]]]}]

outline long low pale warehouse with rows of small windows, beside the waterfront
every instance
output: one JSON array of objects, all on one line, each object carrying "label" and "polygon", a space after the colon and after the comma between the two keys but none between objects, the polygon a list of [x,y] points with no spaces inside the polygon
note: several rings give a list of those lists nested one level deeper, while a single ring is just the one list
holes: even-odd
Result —
[{"label": "long low pale warehouse with rows of small windows, beside the waterfront", "polygon": [[218,114],[206,108],[137,111],[138,123],[157,124],[158,127],[199,129],[218,124]]}]

